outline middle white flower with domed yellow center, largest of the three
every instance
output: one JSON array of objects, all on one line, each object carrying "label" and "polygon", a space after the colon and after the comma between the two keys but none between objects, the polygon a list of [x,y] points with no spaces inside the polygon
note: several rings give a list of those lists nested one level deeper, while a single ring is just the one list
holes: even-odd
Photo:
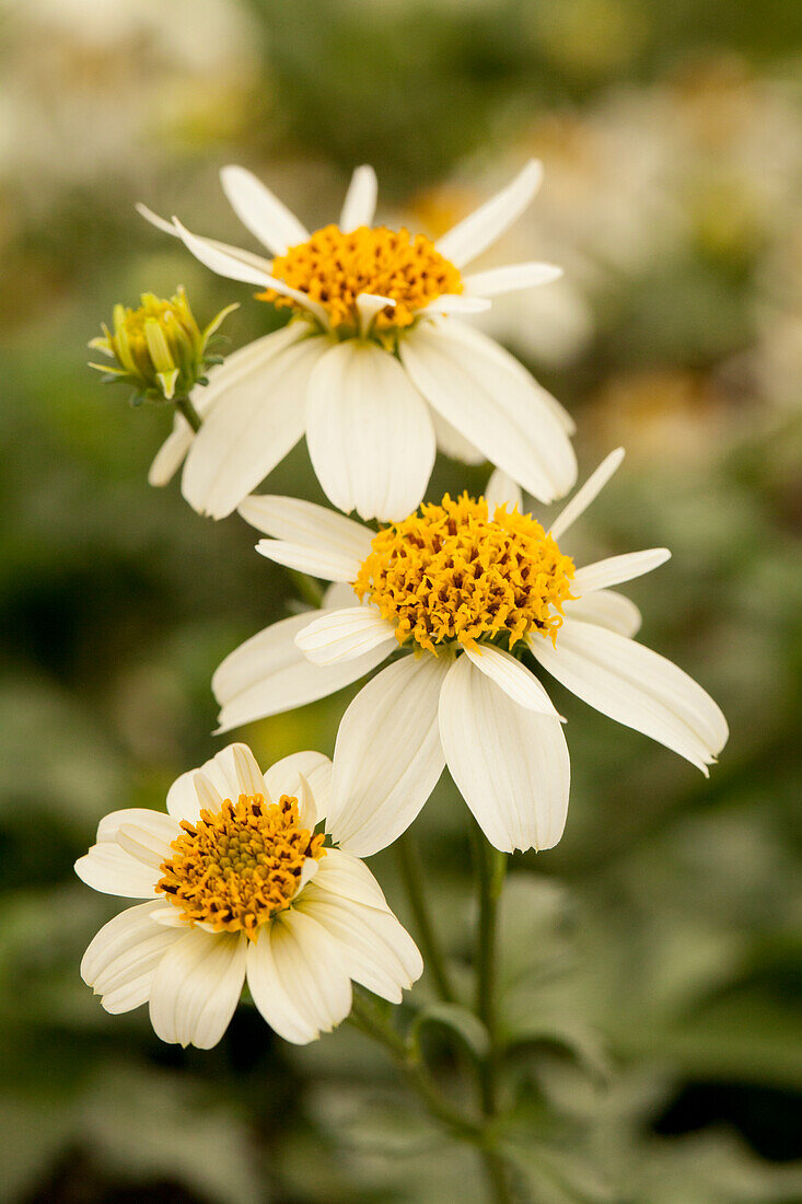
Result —
[{"label": "middle white flower with domed yellow center, largest of the three", "polygon": [[444,765],[497,849],[556,844],[568,751],[521,656],[707,774],[727,738],[724,715],[686,673],[635,642],[639,613],[609,589],[670,553],[574,568],[558,544],[623,455],[603,461],[549,531],[521,513],[520,492],[499,472],[485,498],[446,496],[378,535],[309,502],[248,498],[242,515],[272,536],[258,544],[263,555],[341,584],[317,615],[284,619],[223,662],[212,683],[222,730],[319,698],[400,651],[337,734],[329,815],[360,856],[405,831]]}]

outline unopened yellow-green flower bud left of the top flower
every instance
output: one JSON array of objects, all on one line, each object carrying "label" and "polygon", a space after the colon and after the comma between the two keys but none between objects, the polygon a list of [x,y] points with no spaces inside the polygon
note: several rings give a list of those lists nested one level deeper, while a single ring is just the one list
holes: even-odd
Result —
[{"label": "unopened yellow-green flower bud left of the top flower", "polygon": [[210,341],[237,306],[226,306],[201,330],[183,288],[169,301],[153,293],[143,293],[141,300],[138,309],[116,305],[113,330],[104,325],[102,337],[89,343],[114,365],[89,366],[106,380],[132,385],[137,401],[188,397],[196,384],[206,384],[208,367],[220,362],[219,356],[208,354]]}]

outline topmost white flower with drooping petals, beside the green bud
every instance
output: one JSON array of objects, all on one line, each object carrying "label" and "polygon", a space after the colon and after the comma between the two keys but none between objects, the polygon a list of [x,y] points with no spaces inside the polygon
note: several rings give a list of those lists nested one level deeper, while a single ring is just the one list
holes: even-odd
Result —
[{"label": "topmost white flower with drooping petals, beside the green bud", "polygon": [[541,182],[529,163],[437,243],[375,226],[376,175],[354,172],[337,224],[309,234],[250,172],[224,167],[238,218],[275,256],[190,234],[140,206],[207,267],[259,285],[294,319],[229,356],[193,394],[197,435],[183,419],[163,444],[151,483],[181,465],[187,501],[223,518],[306,433],[312,465],[346,513],[395,520],[420,502],[436,447],[490,460],[543,502],[573,485],[573,424],[497,343],[458,314],[490,297],[555,279],[550,264],[465,275],[465,267],[524,212]]}]

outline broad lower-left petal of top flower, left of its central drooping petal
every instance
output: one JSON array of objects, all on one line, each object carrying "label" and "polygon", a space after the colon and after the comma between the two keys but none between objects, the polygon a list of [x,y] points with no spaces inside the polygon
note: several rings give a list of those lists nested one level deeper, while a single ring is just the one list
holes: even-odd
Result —
[{"label": "broad lower-left petal of top flower, left of its central drooping petal", "polygon": [[182,479],[196,510],[225,518],[303,433],[303,396],[328,342],[300,338],[294,323],[284,346],[234,382],[193,441]]}]

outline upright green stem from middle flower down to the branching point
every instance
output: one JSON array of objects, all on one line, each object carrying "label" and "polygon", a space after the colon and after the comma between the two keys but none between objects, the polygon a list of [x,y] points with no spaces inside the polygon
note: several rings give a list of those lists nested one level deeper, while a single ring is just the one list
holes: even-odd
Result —
[{"label": "upright green stem from middle flower down to the branching point", "polygon": [[507,858],[494,849],[476,821],[471,822],[477,889],[479,892],[479,926],[476,946],[476,1010],[490,1038],[490,1049],[482,1063],[482,1108],[485,1116],[496,1114],[496,919]]}]

